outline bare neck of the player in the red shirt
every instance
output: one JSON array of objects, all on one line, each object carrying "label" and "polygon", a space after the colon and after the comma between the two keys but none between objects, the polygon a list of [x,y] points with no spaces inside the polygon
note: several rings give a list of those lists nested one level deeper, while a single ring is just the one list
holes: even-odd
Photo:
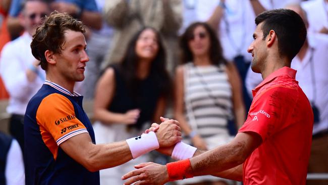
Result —
[{"label": "bare neck of the player in the red shirt", "polygon": [[271,73],[277,71],[280,68],[283,67],[291,67],[290,66],[291,61],[289,61],[286,57],[285,58],[279,58],[278,60],[271,60],[271,62],[267,62],[264,70],[262,70],[262,78],[265,79],[267,76],[269,76]]}]

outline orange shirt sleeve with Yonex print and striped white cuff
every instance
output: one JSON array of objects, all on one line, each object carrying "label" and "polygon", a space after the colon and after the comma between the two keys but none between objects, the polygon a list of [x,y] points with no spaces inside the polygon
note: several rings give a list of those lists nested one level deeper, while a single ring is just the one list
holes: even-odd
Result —
[{"label": "orange shirt sleeve with Yonex print and striped white cuff", "polygon": [[51,94],[42,100],[36,112],[36,121],[41,134],[48,132],[58,146],[75,135],[88,133],[76,118],[72,102],[60,94]]}]

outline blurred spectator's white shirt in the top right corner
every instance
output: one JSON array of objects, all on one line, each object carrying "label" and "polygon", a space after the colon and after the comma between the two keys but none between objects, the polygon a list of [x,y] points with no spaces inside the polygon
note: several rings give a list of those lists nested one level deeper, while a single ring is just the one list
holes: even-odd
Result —
[{"label": "blurred spectator's white shirt in the top right corner", "polygon": [[325,34],[328,39],[328,0],[311,0],[301,4],[309,21],[308,32]]}]

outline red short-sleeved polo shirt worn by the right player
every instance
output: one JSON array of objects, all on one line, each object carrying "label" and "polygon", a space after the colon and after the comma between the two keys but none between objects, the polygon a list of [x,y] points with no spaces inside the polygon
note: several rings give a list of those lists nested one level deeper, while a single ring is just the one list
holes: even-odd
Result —
[{"label": "red short-sleeved polo shirt worn by the right player", "polygon": [[253,89],[253,102],[239,132],[255,132],[261,145],[246,159],[244,184],[305,184],[312,142],[313,112],[295,80],[283,67]]}]

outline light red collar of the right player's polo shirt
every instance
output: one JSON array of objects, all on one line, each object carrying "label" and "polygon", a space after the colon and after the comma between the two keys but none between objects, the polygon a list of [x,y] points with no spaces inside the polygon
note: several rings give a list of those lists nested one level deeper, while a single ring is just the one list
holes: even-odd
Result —
[{"label": "light red collar of the right player's polo shirt", "polygon": [[258,84],[253,90],[252,94],[253,97],[255,97],[256,92],[265,84],[270,83],[272,80],[274,80],[278,76],[282,75],[289,75],[290,77],[295,79],[296,76],[296,70],[289,68],[289,67],[282,67],[278,69],[277,71],[271,73],[269,76],[267,76],[260,84]]}]

